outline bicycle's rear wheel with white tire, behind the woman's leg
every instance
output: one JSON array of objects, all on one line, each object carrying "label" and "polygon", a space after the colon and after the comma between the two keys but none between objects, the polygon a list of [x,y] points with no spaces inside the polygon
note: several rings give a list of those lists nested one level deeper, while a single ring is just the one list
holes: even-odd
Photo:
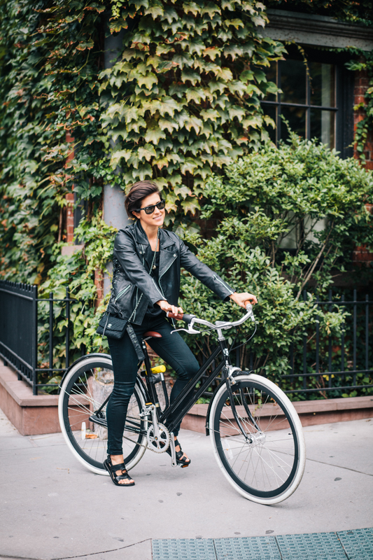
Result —
[{"label": "bicycle's rear wheel with white tire, behind the woman's leg", "polygon": [[[112,387],[111,358],[88,354],[71,367],[59,393],[59,426],[64,440],[78,461],[98,475],[108,475],[103,465],[107,456],[107,428],[90,421],[89,417],[101,407]],[[123,433],[123,454],[127,470],[134,468],[146,451],[146,447],[142,447],[146,445],[146,435],[128,429],[135,427],[146,432],[148,420],[139,417],[145,402],[146,394],[142,381],[138,379],[129,402]],[[106,423],[106,405],[100,416]],[[130,441],[125,437],[129,437]]]}]

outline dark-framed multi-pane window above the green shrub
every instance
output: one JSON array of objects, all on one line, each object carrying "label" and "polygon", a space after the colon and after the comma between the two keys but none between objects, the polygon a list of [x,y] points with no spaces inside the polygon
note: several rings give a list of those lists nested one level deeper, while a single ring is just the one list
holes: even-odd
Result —
[{"label": "dark-framed multi-pane window above the green shrub", "polygon": [[[267,127],[274,144],[288,138],[290,128],[302,138],[317,138],[336,148],[342,158],[353,155],[353,75],[344,58],[335,53],[313,50],[307,64],[299,51],[290,47],[285,60],[266,70],[267,80],[276,83],[281,93],[269,94],[262,101],[265,115],[276,128]],[[310,51],[310,50],[309,50]]]}]

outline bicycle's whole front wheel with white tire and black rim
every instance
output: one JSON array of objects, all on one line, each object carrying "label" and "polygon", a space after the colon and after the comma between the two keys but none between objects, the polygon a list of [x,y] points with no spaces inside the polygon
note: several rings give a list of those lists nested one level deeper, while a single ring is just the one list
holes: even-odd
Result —
[{"label": "bicycle's whole front wheel with white tire and black rim", "polygon": [[285,500],[300,484],[306,463],[302,424],[281,389],[269,379],[242,372],[232,385],[234,419],[223,383],[213,398],[209,432],[216,461],[245,498],[262,504]]}]

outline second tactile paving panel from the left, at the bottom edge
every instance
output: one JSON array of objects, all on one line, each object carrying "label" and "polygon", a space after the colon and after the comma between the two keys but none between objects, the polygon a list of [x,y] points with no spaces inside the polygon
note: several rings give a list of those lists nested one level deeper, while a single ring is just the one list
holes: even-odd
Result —
[{"label": "second tactile paving panel from the left, at the bottom edge", "polygon": [[215,538],[217,560],[281,560],[274,537]]}]

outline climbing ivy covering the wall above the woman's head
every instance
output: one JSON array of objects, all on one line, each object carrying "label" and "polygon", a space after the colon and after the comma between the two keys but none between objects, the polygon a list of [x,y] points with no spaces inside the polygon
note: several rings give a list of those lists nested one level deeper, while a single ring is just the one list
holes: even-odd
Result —
[{"label": "climbing ivy covering the wall above the woman's head", "polygon": [[[262,69],[284,49],[258,36],[260,2],[3,0],[1,9],[5,278],[45,278],[66,241],[72,189],[90,218],[104,184],[153,177],[170,218],[194,214],[206,177],[266,138],[260,99],[275,86]],[[104,69],[105,35],[122,30],[124,52]]]}]

